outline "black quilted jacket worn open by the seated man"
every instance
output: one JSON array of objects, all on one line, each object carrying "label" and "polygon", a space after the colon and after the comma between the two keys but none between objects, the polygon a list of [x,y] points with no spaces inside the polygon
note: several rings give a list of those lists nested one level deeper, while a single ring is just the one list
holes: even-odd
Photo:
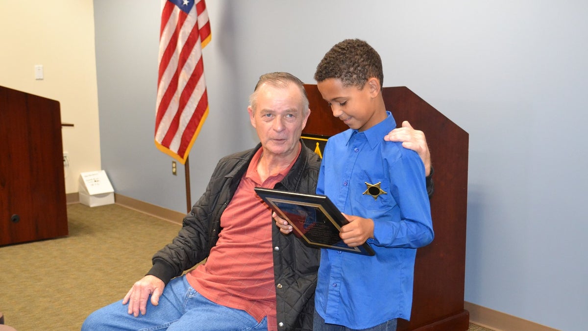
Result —
[{"label": "black quilted jacket worn open by the seated man", "polygon": [[[302,141],[301,141],[302,143]],[[320,159],[305,147],[288,175],[275,188],[315,193]],[[223,157],[217,164],[206,192],[183,219],[182,229],[171,244],[153,256],[148,274],[166,284],[173,277],[208,257],[218,240],[220,215],[235,194],[251,158],[261,147]],[[273,224],[273,220],[271,221]],[[273,225],[273,265],[279,330],[312,330],[316,275],[320,250],[305,246],[299,239],[283,236]]]}]

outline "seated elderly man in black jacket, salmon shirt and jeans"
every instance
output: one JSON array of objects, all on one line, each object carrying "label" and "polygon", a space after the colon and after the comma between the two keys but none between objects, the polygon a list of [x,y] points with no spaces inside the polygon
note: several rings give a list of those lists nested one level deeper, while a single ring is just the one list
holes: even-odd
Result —
[{"label": "seated elderly man in black jacket, salmon shirt and jeans", "polygon": [[[315,193],[320,160],[300,140],[310,114],[302,81],[262,75],[248,112],[260,144],[219,161],[147,275],[122,302],[88,316],[82,330],[312,330],[319,250],[281,235],[253,190]],[[429,164],[424,135],[399,130],[386,139],[402,136]]]}]

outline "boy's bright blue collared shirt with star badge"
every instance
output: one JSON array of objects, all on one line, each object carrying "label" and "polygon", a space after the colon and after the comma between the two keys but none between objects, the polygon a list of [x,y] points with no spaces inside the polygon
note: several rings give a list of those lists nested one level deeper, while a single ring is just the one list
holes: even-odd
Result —
[{"label": "boy's bright blue collared shirt with star badge", "polygon": [[387,112],[372,128],[346,130],[325,145],[316,193],[345,214],[372,219],[368,243],[376,253],[321,250],[315,304],[326,323],[366,329],[410,319],[416,249],[433,240],[433,225],[422,160],[383,140],[395,127]]}]

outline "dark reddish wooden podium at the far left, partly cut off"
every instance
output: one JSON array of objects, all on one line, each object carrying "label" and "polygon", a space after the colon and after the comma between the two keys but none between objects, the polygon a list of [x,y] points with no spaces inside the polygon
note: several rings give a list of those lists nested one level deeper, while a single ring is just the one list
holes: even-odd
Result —
[{"label": "dark reddish wooden podium at the far left, partly cut off", "polygon": [[68,234],[59,111],[0,87],[0,246]]}]

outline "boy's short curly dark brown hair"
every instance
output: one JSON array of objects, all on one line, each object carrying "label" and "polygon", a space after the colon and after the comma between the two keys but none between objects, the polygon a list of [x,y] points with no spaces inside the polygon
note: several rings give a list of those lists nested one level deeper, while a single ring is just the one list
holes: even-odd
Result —
[{"label": "boy's short curly dark brown hair", "polygon": [[333,46],[320,60],[315,72],[317,82],[336,78],[344,87],[363,88],[372,77],[380,80],[381,88],[384,82],[382,59],[375,49],[360,39],[345,39]]}]

